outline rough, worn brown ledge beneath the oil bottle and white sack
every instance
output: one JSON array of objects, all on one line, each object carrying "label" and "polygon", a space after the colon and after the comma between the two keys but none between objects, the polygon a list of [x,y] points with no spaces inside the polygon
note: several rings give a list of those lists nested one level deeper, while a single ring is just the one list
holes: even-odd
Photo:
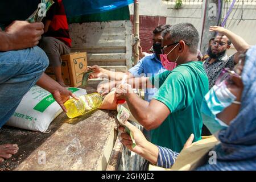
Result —
[{"label": "rough, worn brown ledge beneath the oil bottle and white sack", "polygon": [[61,113],[46,134],[4,126],[0,144],[17,143],[19,151],[0,170],[105,170],[117,136],[116,114],[96,110],[69,119]]}]

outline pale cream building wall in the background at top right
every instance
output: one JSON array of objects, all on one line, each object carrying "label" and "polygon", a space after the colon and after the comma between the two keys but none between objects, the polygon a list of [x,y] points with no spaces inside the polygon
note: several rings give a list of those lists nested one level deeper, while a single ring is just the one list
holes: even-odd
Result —
[{"label": "pale cream building wall in the background at top right", "polygon": [[[175,2],[175,1],[172,1]],[[142,16],[155,16],[166,17],[167,24],[176,24],[182,22],[192,23],[199,34],[201,34],[201,28],[204,18],[203,1],[185,1],[182,9],[175,10],[173,3],[163,3],[162,0],[139,0],[139,14]],[[226,28],[234,33],[240,35],[250,45],[256,44],[256,36],[254,35],[256,29],[256,1],[237,1],[232,13],[226,22]],[[229,9],[230,3],[226,4],[222,9],[222,17],[226,15]],[[130,14],[133,15],[133,5],[130,5]],[[146,25],[141,25],[146,26]],[[146,28],[143,28],[145,29]],[[144,33],[146,34],[146,33]],[[228,51],[231,55],[236,50],[232,46]]]}]

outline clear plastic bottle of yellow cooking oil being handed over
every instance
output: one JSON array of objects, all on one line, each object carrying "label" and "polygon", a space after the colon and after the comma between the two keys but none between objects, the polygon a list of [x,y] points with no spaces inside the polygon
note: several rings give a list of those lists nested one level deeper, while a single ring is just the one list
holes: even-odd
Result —
[{"label": "clear plastic bottle of yellow cooking oil being handed over", "polygon": [[94,109],[100,107],[102,103],[102,97],[98,93],[86,94],[84,96],[80,96],[79,100],[75,100],[75,98],[69,99],[64,103],[64,106],[67,109],[67,116],[69,118],[75,118],[79,115],[88,113]]}]

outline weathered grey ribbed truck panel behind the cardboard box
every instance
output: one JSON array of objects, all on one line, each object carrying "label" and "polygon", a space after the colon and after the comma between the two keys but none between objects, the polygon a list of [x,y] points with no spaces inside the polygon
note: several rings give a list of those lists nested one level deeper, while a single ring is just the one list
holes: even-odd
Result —
[{"label": "weathered grey ribbed truck panel behind the cardboard box", "polygon": [[72,52],[87,52],[88,65],[127,71],[132,67],[130,20],[72,23]]}]

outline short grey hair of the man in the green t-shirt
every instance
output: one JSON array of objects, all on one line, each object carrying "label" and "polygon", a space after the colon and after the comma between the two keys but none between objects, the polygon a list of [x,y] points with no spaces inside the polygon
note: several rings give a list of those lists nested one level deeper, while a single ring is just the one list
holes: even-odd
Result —
[{"label": "short grey hair of the man in the green t-shirt", "polygon": [[163,38],[168,34],[170,34],[168,39],[172,40],[172,42],[179,42],[180,40],[183,40],[189,45],[189,50],[191,53],[197,53],[197,47],[199,44],[199,33],[193,26],[193,24],[175,24],[174,26],[162,32]]}]

